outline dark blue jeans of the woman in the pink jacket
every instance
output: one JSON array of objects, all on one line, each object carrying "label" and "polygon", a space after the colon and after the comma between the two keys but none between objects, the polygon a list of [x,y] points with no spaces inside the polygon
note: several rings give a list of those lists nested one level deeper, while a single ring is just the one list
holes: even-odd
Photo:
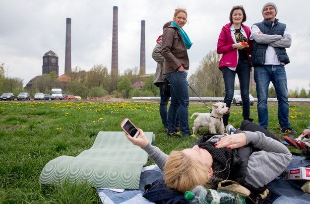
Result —
[{"label": "dark blue jeans of the woman in the pink jacket", "polygon": [[[230,108],[235,91],[235,77],[236,73],[240,81],[240,93],[242,99],[242,115],[244,118],[249,118],[249,77],[250,68],[248,61],[239,61],[236,71],[227,67],[222,68],[223,78],[225,83],[225,97],[224,103]],[[223,118],[229,118],[230,114],[223,115]]]}]

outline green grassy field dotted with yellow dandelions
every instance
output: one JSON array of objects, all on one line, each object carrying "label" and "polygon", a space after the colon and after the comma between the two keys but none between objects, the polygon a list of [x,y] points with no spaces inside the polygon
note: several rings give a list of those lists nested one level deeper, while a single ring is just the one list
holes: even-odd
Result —
[{"label": "green grassy field dotted with yellow dandelions", "polygon": [[[207,102],[211,107],[212,102]],[[173,138],[164,133],[158,102],[0,102],[0,203],[100,203],[96,189],[87,184],[40,185],[41,170],[50,160],[76,156],[89,149],[99,131],[121,131],[125,117],[143,131],[156,135],[155,145],[164,152],[188,147],[193,137]],[[191,103],[194,112],[209,112],[201,102]],[[256,106],[250,107],[257,123]],[[308,103],[290,105],[290,122],[301,133],[310,125]],[[190,128],[194,119],[189,119]],[[239,127],[242,106],[232,106],[230,123]],[[282,138],[277,105],[269,105],[269,130]],[[202,129],[198,134],[208,132]],[[291,149],[297,151],[296,149]],[[148,161],[148,164],[153,164]]]}]

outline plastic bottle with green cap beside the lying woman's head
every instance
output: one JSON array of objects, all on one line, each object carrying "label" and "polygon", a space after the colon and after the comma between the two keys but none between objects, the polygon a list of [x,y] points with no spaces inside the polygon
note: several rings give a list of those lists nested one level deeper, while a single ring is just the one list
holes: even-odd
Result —
[{"label": "plastic bottle with green cap beside the lying woman's head", "polygon": [[190,204],[246,204],[245,197],[235,192],[207,189],[203,186],[186,191],[184,197]]}]

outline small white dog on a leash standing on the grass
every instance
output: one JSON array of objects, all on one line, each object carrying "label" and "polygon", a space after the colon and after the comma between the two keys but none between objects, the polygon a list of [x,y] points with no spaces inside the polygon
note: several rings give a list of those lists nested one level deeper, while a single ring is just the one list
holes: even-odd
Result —
[{"label": "small white dog on a leash standing on the grass", "polygon": [[216,134],[216,127],[220,130],[220,133],[224,134],[224,123],[223,123],[223,115],[229,113],[229,108],[226,107],[226,103],[217,102],[213,104],[213,110],[211,113],[194,113],[191,115],[192,117],[197,116],[194,120],[194,127],[192,128],[194,134],[197,134],[199,128],[206,127],[209,128],[210,133]]}]

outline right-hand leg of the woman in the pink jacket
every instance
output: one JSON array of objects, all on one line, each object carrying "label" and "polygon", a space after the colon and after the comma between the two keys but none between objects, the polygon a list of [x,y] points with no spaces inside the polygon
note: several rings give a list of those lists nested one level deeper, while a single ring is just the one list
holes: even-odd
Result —
[{"label": "right-hand leg of the woman in the pink jacket", "polygon": [[240,82],[240,93],[242,99],[242,115],[244,119],[249,118],[249,77],[250,68],[248,61],[241,61],[236,68]]}]

